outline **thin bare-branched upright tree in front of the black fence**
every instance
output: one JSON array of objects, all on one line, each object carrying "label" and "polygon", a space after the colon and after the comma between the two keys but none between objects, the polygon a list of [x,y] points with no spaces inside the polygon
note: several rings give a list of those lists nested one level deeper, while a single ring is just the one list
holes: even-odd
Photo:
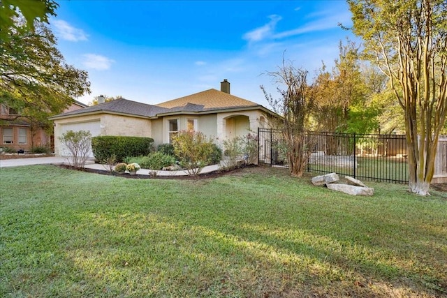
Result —
[{"label": "thin bare-branched upright tree in front of the black fence", "polygon": [[311,150],[306,128],[313,100],[307,96],[307,71],[295,68],[291,61],[283,59],[282,66],[267,75],[273,78],[275,84],[285,87],[277,87],[281,94],[279,99],[272,98],[263,86],[261,89],[274,112],[282,117],[279,129],[284,131],[288,170],[291,175],[301,177],[306,170]]}]

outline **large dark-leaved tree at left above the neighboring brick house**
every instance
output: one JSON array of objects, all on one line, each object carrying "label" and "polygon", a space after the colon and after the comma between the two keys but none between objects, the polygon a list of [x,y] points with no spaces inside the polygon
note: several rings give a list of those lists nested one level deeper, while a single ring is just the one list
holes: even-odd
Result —
[{"label": "large dark-leaved tree at left above the neighboring brick house", "polygon": [[[52,1],[26,2],[55,5]],[[5,5],[2,2],[2,13],[8,11]],[[54,14],[54,8],[50,11]],[[13,19],[13,24],[24,22],[20,15]],[[63,112],[73,98],[89,93],[88,74],[65,63],[53,33],[43,22],[35,20],[31,29],[19,25],[8,29],[10,35],[6,40],[2,36],[0,43],[0,103],[31,124],[51,127],[47,117]]]}]

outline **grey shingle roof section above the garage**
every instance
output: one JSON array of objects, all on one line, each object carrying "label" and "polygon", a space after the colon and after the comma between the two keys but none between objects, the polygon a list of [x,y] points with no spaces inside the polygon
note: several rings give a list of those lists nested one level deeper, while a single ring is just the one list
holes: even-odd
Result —
[{"label": "grey shingle roof section above the garage", "polygon": [[[91,107],[85,107],[80,110],[75,110],[72,112],[66,112],[64,114],[59,114],[53,117],[59,116],[71,116],[75,114],[85,114],[89,112],[117,112],[123,114],[132,114],[138,116],[153,117],[158,113],[167,112],[168,109],[163,107],[157,107],[155,105],[148,105],[146,103],[138,103],[133,100],[128,100],[125,98],[118,98],[107,103],[100,103],[98,105],[92,105]],[[51,118],[53,118],[51,117]]]}]

